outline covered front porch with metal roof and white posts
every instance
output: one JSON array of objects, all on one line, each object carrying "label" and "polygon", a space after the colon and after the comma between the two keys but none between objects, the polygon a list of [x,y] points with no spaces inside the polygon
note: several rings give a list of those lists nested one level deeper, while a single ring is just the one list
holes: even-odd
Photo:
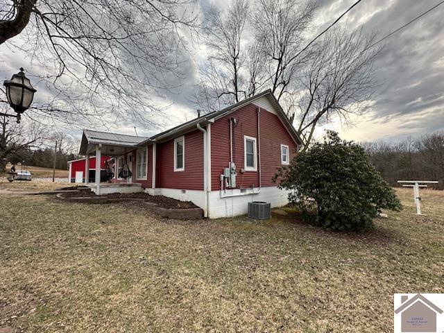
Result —
[{"label": "covered front porch with metal roof and white posts", "polygon": [[[114,160],[116,160],[117,157],[141,148],[139,144],[144,141],[146,141],[146,137],[83,130],[79,155],[85,155],[85,173],[89,171],[89,157],[96,157],[95,181],[89,182],[88,177],[86,177],[85,185],[90,187],[97,195],[141,192],[142,185],[139,183],[133,183],[131,181],[101,182],[101,156],[105,154],[114,157]],[[114,167],[113,172],[117,173],[118,170]]]}]

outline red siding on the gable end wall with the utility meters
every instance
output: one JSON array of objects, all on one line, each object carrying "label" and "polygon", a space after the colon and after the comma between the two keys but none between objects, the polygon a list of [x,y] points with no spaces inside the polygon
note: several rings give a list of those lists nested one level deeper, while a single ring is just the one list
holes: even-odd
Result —
[{"label": "red siding on the gable end wall with the utility meters", "polygon": [[[259,186],[259,172],[244,169],[244,135],[258,138],[257,135],[257,106],[248,104],[239,110],[215,121],[211,126],[212,153],[212,190],[221,188],[220,175],[230,162],[230,118],[238,119],[233,126],[233,162],[237,169],[237,187],[248,188]],[[279,117],[262,109],[260,113],[260,145],[262,164],[262,186],[276,186],[271,178],[281,167],[280,145],[289,146],[290,158],[294,155],[296,143],[284,128]],[[258,161],[259,162],[259,161]],[[258,168],[259,170],[259,168]]]}]

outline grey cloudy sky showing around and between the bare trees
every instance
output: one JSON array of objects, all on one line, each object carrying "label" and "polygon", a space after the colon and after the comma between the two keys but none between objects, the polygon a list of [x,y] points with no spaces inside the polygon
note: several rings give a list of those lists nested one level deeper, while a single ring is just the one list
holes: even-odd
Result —
[{"label": "grey cloudy sky showing around and between the bare trees", "polygon": [[[318,0],[313,33],[333,22],[354,2]],[[341,20],[341,24],[350,29],[362,26],[364,31],[376,31],[384,37],[439,2],[441,0],[363,0]],[[227,0],[201,0],[196,8],[209,3],[225,8]],[[371,101],[372,108],[363,116],[351,119],[352,125],[334,122],[327,127],[339,131],[346,139],[356,141],[399,141],[408,136],[444,130],[443,17],[444,4],[384,40],[385,48],[375,62],[378,87]],[[15,37],[15,42],[19,38]],[[156,97],[157,103],[169,106],[163,126],[175,126],[196,113],[189,102],[189,94],[195,89],[197,66],[203,60],[205,50],[198,43],[191,49],[184,65],[185,78],[180,89]],[[11,49],[6,44],[0,46],[0,64],[0,74],[4,79],[20,66],[35,74],[51,71],[50,65],[36,63],[27,53]],[[39,84],[36,83],[39,92],[50,93],[47,87]],[[112,130],[134,134],[135,125],[139,135],[151,135],[157,131],[131,122],[115,123]],[[71,126],[69,130],[80,136],[80,128]],[[323,130],[318,130],[318,135],[321,133]]]}]

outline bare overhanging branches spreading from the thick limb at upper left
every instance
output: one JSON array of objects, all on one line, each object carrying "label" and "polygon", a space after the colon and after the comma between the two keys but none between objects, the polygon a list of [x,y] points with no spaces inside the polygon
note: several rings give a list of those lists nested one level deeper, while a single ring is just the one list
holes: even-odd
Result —
[{"label": "bare overhanging branches spreading from the thick limb at upper left", "polygon": [[[101,124],[130,118],[155,126],[153,115],[162,110],[153,96],[182,78],[187,36],[197,22],[193,3],[3,1],[0,44],[27,51],[52,72],[36,74],[48,90],[36,95],[36,114]],[[15,35],[20,39],[11,40]]]}]

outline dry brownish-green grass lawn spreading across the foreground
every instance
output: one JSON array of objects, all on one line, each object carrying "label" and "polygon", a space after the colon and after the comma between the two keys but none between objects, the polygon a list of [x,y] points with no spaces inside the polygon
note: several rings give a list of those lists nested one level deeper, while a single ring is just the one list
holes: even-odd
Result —
[{"label": "dry brownish-green grass lawn spreading across the foreground", "polygon": [[393,332],[393,293],[444,293],[444,192],[421,190],[427,217],[398,193],[368,234],[0,194],[0,327]]}]

